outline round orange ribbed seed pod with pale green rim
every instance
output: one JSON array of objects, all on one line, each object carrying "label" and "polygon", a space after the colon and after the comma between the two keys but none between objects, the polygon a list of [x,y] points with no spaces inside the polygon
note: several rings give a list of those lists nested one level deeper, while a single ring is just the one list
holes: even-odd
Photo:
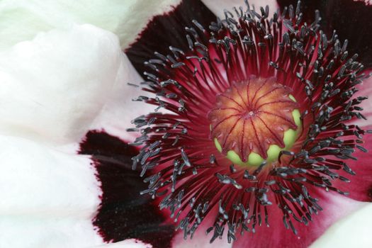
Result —
[{"label": "round orange ribbed seed pod with pale green rim", "polygon": [[215,146],[234,164],[275,162],[296,140],[301,125],[297,108],[291,89],[275,78],[232,84],[208,113]]}]

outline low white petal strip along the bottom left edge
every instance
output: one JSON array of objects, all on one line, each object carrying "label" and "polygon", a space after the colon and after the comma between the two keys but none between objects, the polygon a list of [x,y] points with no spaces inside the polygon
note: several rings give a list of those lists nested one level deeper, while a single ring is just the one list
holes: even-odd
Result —
[{"label": "low white petal strip along the bottom left edge", "polygon": [[85,218],[0,216],[0,247],[84,248],[102,243]]}]

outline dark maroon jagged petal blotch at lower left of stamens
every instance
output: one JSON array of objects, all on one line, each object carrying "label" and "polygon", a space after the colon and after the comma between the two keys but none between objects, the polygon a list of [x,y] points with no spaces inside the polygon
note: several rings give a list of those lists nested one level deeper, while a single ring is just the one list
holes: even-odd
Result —
[{"label": "dark maroon jagged petal blotch at lower left of stamens", "polygon": [[150,198],[140,196],[147,188],[138,171],[132,170],[134,147],[104,132],[89,131],[80,144],[80,154],[90,154],[103,191],[93,220],[106,242],[140,239],[153,247],[170,247],[174,227],[165,225],[159,208]]}]

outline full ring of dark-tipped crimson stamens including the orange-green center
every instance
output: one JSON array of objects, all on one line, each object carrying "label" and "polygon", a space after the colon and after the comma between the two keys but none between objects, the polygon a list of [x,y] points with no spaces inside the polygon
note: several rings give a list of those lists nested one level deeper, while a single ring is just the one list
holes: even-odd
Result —
[{"label": "full ring of dark-tipped crimson stamens including the orange-green center", "polygon": [[362,138],[372,131],[349,121],[365,119],[358,105],[366,98],[354,94],[368,76],[347,41],[319,30],[319,11],[304,23],[299,4],[270,20],[269,8],[259,14],[247,4],[209,30],[193,21],[190,50],[169,47],[147,64],[142,89],[154,96],[135,101],[167,112],[133,120],[130,131],[141,135],[133,168],[142,167],[150,180],[142,193],[161,199],[185,238],[215,206],[211,242],[256,232],[263,218],[269,226],[272,208],[297,234],[322,210],[318,191],[347,195],[332,182],[350,181],[337,172],[355,175],[346,162],[366,152]]}]

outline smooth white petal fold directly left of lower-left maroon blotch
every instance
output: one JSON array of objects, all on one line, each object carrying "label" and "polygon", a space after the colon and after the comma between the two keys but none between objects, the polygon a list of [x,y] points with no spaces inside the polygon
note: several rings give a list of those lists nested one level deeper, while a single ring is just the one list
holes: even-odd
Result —
[{"label": "smooth white petal fold directly left of lower-left maroon blotch", "polygon": [[0,135],[2,215],[91,218],[101,189],[91,159],[38,142]]}]

